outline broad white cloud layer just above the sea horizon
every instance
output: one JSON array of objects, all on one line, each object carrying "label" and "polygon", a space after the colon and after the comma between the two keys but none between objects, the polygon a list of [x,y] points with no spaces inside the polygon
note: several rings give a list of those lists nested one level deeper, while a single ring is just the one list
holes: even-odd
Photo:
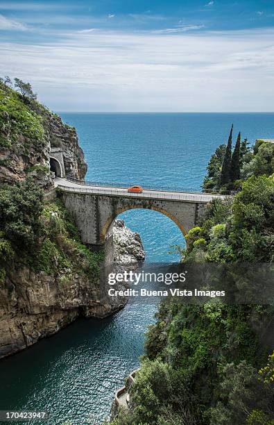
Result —
[{"label": "broad white cloud layer just above the sea horizon", "polygon": [[53,110],[271,111],[273,39],[274,28],[0,42],[0,75],[30,81]]}]

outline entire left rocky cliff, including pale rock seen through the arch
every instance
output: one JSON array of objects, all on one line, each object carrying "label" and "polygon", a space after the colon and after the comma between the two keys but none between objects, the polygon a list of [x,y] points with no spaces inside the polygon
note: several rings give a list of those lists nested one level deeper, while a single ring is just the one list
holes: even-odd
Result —
[{"label": "entire left rocky cliff, including pale rock seen through the arch", "polygon": [[[79,315],[105,317],[126,303],[108,297],[102,253],[81,243],[62,202],[42,200],[42,190],[53,187],[51,149],[62,151],[66,174],[85,177],[75,129],[0,82],[0,358]],[[139,235],[121,220],[113,249],[117,261],[144,260]]]}]

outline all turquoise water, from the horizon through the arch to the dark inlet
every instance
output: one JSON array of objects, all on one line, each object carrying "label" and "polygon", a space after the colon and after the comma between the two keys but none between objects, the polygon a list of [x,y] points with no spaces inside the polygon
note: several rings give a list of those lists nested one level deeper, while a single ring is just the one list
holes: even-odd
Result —
[{"label": "all turquoise water, from the horizon through the arch to the dark inlet", "polygon": [[[87,178],[200,187],[214,149],[236,133],[273,138],[274,114],[65,114],[76,126],[89,165]],[[149,210],[120,215],[142,235],[146,262],[177,260],[184,243],[170,219]],[[139,364],[155,306],[128,303],[103,320],[78,321],[52,338],[0,362],[0,410],[47,410],[49,424],[100,424],[114,390]]]}]

